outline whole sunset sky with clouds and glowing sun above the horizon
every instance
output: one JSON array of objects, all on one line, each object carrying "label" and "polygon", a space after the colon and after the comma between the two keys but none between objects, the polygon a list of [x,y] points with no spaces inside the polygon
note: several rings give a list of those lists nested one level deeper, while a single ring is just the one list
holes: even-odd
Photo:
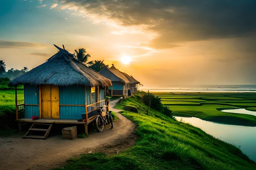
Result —
[{"label": "whole sunset sky with clouds and glowing sun above the horizon", "polygon": [[255,9],[255,0],[1,0],[0,60],[31,70],[56,44],[144,86],[256,84]]}]

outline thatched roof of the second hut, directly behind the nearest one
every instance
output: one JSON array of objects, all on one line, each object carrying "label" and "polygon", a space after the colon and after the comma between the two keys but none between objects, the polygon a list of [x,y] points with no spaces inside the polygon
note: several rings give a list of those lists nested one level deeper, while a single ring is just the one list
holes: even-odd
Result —
[{"label": "thatched roof of the second hut, directly behind the nearest one", "polygon": [[108,77],[112,82],[130,83],[126,76],[115,68],[114,65],[112,65],[110,68],[103,68],[99,73],[105,77]]}]

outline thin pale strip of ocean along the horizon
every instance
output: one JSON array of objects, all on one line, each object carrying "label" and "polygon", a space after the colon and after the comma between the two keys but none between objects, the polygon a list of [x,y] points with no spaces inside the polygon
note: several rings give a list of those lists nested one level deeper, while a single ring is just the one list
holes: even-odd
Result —
[{"label": "thin pale strip of ocean along the horizon", "polygon": [[256,85],[157,85],[140,86],[145,92],[256,92]]}]

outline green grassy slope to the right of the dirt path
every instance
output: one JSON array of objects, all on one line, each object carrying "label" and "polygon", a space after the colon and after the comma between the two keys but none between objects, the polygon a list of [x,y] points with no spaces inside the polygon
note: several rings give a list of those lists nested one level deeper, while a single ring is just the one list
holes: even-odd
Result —
[{"label": "green grassy slope to the right of the dirt path", "polygon": [[[139,113],[122,111],[137,124],[137,142],[116,155],[92,153],[67,161],[54,170],[254,170],[256,163],[239,148],[204,131],[150,109],[148,115],[139,97],[117,105],[136,106]],[[111,148],[109,148],[111,149]]]}]

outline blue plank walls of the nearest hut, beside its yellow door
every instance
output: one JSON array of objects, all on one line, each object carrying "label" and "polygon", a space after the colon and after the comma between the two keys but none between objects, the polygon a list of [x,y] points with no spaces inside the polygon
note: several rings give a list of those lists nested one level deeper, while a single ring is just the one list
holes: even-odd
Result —
[{"label": "blue plank walls of the nearest hut, beside its yellow door", "polygon": [[[91,87],[86,87],[86,102],[90,102]],[[99,101],[105,99],[105,89],[99,89]],[[39,86],[24,85],[24,104],[36,104],[38,106],[25,105],[25,117],[39,117]],[[85,86],[59,87],[60,105],[84,105]],[[101,102],[103,106],[105,102]],[[88,111],[92,110],[89,107]],[[85,106],[60,106],[60,119],[81,119],[81,114],[85,113]]]}]

